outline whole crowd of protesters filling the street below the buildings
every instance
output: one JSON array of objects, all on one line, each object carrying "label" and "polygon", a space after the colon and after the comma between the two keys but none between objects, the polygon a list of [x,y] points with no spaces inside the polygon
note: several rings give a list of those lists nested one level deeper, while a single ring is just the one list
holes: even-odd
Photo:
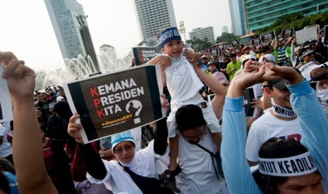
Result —
[{"label": "whole crowd of protesters filling the street below the buildings", "polygon": [[[161,67],[168,116],[151,124],[145,148],[131,131],[83,143],[61,86],[34,91],[33,70],[0,52],[13,103],[13,121],[0,124],[0,191],[328,193],[322,34],[211,55],[184,48],[176,27],[163,30],[162,54],[146,65]],[[243,109],[250,86],[259,98],[255,117]]]}]

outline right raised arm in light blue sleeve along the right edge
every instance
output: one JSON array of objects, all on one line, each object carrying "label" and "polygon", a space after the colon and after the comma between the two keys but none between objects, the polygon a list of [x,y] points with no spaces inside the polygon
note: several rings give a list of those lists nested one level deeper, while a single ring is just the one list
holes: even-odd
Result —
[{"label": "right raised arm in light blue sleeve along the right edge", "polygon": [[300,143],[308,148],[322,176],[322,186],[328,192],[328,119],[321,108],[315,91],[292,67],[272,67],[272,70],[288,80],[291,105],[302,129]]}]

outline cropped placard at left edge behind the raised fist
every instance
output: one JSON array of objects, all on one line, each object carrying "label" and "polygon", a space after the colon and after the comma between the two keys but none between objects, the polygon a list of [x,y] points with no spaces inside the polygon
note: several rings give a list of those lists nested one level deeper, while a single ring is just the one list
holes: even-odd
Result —
[{"label": "cropped placard at left edge behind the raised fist", "polygon": [[[4,67],[0,63],[0,75]],[[0,122],[6,122],[13,119],[13,107],[11,105],[11,96],[9,94],[6,79],[0,77]]]}]

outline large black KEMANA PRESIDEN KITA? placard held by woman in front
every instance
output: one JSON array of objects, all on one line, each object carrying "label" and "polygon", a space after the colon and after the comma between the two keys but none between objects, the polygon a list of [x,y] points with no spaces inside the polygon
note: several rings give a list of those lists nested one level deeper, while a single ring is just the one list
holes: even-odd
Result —
[{"label": "large black KEMANA PRESIDEN KITA? placard held by woman in front", "polygon": [[63,84],[80,115],[85,143],[141,127],[165,116],[159,65],[142,65]]}]

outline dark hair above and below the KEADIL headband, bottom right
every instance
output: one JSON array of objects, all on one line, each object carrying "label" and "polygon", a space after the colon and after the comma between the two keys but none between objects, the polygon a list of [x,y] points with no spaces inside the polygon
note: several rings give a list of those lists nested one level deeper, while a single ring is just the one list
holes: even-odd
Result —
[{"label": "dark hair above and below the KEADIL headband, bottom right", "polygon": [[[298,141],[290,141],[282,138],[269,138],[262,144],[259,150],[259,157],[262,158],[283,158],[300,155],[308,152],[308,149]],[[263,193],[275,193],[278,183],[284,183],[288,177],[271,176],[261,174],[260,171],[253,173],[253,178]]]}]

